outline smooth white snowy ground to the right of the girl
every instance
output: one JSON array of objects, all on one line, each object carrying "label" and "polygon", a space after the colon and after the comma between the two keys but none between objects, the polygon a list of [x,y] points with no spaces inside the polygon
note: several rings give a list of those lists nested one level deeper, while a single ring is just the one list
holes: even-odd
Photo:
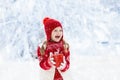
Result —
[{"label": "smooth white snowy ground to the right of the girl", "polygon": [[[74,69],[74,79],[81,80],[119,80],[119,57],[81,56]],[[76,76],[77,75],[77,76]]]}]

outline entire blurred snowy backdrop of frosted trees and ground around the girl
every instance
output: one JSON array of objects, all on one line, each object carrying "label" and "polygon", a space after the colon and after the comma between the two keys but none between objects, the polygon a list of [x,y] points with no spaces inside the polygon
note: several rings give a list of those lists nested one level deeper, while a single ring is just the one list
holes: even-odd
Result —
[{"label": "entire blurred snowy backdrop of frosted trees and ground around the girl", "polygon": [[63,25],[73,80],[120,80],[120,0],[0,0],[0,80],[40,80],[46,16]]}]

